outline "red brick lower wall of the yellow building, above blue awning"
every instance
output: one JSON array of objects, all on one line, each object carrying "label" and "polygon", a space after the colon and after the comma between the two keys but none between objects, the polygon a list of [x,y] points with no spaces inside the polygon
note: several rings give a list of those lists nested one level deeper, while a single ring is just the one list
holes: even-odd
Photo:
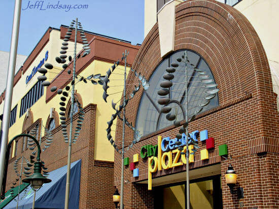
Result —
[{"label": "red brick lower wall of the yellow building, above blue awning", "polygon": [[[72,146],[71,162],[81,159],[81,183],[80,183],[80,208],[113,208],[112,195],[113,187],[113,162],[94,160],[94,140],[95,140],[95,116],[96,105],[88,105],[84,108],[84,123],[78,141]],[[74,127],[78,114],[74,116]],[[35,122],[37,123],[37,121]],[[69,128],[69,119],[66,120]],[[33,125],[27,130],[32,129]],[[64,142],[61,126],[57,125],[52,131],[54,141],[49,148],[41,154],[41,159],[45,162],[49,171],[57,169],[67,164],[68,144]],[[40,133],[39,133],[40,134]],[[44,135],[44,134],[43,134]],[[44,148],[45,137],[42,141],[42,149]],[[22,140],[18,144],[18,154],[9,162],[8,179],[6,190],[12,186],[12,182],[16,179],[13,169],[14,160],[20,156],[30,159],[30,150],[23,153]],[[37,148],[35,148],[37,149]],[[19,171],[20,171],[20,162]],[[64,201],[64,199],[61,199]]]}]

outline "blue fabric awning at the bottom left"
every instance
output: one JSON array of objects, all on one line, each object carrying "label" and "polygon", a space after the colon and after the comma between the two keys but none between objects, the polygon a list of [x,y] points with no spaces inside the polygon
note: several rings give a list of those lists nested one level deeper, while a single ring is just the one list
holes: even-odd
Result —
[{"label": "blue fabric awning at the bottom left", "polygon": [[[44,184],[42,188],[36,192],[36,208],[64,208],[66,172],[66,165],[49,172],[48,179],[51,179],[52,181],[51,183]],[[81,160],[78,160],[71,163],[69,208],[79,208],[80,176]],[[20,193],[20,200],[18,204],[18,208],[20,209],[32,208],[34,192],[30,186],[28,186],[26,189],[26,192]],[[4,208],[16,208],[17,202],[15,199],[7,204]]]}]

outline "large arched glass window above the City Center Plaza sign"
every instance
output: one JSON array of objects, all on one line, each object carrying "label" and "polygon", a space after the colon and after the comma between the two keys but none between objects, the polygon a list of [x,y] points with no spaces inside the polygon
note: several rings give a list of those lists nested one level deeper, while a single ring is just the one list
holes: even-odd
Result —
[{"label": "large arched glass window above the City Center Plaza sign", "polygon": [[[157,100],[160,97],[157,94],[157,91],[161,89],[160,83],[164,81],[163,75],[167,73],[165,69],[169,67],[172,62],[177,62],[176,59],[181,57],[184,52],[185,50],[180,50],[165,58],[156,67],[149,80],[150,87],[144,92],[142,96],[136,117],[136,129],[139,130],[143,135],[172,125],[170,121],[166,120],[165,114],[160,114],[160,109],[162,106],[157,103]],[[210,76],[210,79],[214,79],[210,67],[199,54],[187,50],[187,56],[192,64],[205,71],[206,74]],[[185,64],[183,62],[179,63],[179,67],[177,67],[177,71],[174,73],[174,75],[175,78],[172,80],[172,82],[175,84],[170,88],[170,103],[168,106],[172,107],[171,113],[177,114],[178,120],[183,120],[185,119]],[[188,73],[188,80],[195,81],[197,79],[198,77],[196,73],[192,73],[191,71]],[[190,83],[188,87],[191,87],[191,85],[194,87],[193,85],[195,85],[195,83]],[[189,114],[194,113],[195,109],[191,108],[197,105],[199,91],[201,91],[200,88],[188,89],[188,94],[196,94],[188,97]],[[215,108],[218,105],[219,101],[217,95],[206,107],[203,108],[202,112]]]}]

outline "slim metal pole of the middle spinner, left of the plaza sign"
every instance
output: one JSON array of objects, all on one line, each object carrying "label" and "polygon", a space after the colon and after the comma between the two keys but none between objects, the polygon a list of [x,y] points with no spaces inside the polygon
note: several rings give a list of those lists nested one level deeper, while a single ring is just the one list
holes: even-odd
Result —
[{"label": "slim metal pole of the middle spinner, left of the plaza sign", "polygon": [[121,189],[120,189],[120,209],[123,209],[124,193],[124,140],[125,140],[125,99],[126,99],[126,61],[127,50],[125,50],[125,71],[124,71],[124,91],[123,91],[123,124],[122,124],[122,160],[121,160]]}]

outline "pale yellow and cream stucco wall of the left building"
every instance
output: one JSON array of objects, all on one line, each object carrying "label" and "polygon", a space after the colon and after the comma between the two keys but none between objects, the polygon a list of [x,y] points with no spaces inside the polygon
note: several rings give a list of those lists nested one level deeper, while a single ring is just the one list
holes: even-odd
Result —
[{"label": "pale yellow and cream stucco wall of the left building", "polygon": [[[33,61],[33,63],[30,65],[30,67],[27,69],[26,73],[22,75],[21,79],[18,81],[18,83],[14,87],[13,91],[13,101],[12,101],[12,109],[18,105],[17,107],[17,117],[16,122],[10,127],[9,130],[9,140],[17,134],[20,134],[22,131],[22,125],[25,118],[25,114],[23,114],[19,118],[20,114],[20,102],[21,98],[28,92],[30,88],[38,81],[37,77],[41,74],[37,72],[37,74],[29,81],[29,83],[26,85],[26,76],[30,75],[32,72],[32,68],[34,66],[37,66],[39,62],[45,57],[45,53],[48,50],[49,51],[49,58],[47,60],[48,63],[52,63],[54,65],[54,68],[51,70],[48,70],[48,73],[46,74],[48,80],[51,81],[57,73],[60,72],[61,65],[59,65],[55,61],[55,57],[59,55],[59,51],[61,50],[61,43],[62,40],[60,40],[60,31],[58,30],[52,30],[50,34],[50,41],[46,44],[44,49],[39,53],[37,58]],[[71,44],[69,44],[71,46]],[[82,48],[82,46],[79,46],[78,48]],[[71,51],[70,49],[68,51]],[[68,53],[71,54],[71,53]],[[46,63],[46,62],[45,62]],[[103,62],[94,60],[92,63],[90,63],[82,73],[80,73],[80,76],[87,77],[91,74],[101,74],[105,75],[108,68],[111,67],[111,63]],[[110,77],[110,86],[111,88],[108,89],[108,93],[115,93],[120,92],[123,90],[123,69],[124,66],[118,66],[117,69],[115,69],[116,74],[112,74]],[[128,70],[128,68],[127,68]],[[127,74],[128,75],[128,74]],[[61,81],[64,82],[64,81]],[[113,87],[115,86],[115,87]],[[79,93],[82,97],[83,107],[87,106],[89,103],[95,103],[97,104],[97,110],[96,110],[96,129],[95,129],[95,152],[94,152],[94,159],[97,160],[104,160],[104,161],[114,161],[114,148],[107,140],[107,121],[111,119],[111,115],[114,114],[114,111],[111,107],[111,101],[112,99],[114,102],[118,101],[121,98],[122,93],[113,94],[108,97],[108,102],[106,103],[102,99],[102,93],[103,89],[101,85],[93,85],[91,82],[85,84],[84,82],[79,82],[76,85],[77,93]],[[68,96],[68,100],[69,100]],[[68,102],[68,100],[66,102]],[[5,100],[4,100],[5,101]],[[43,126],[46,125],[47,118],[50,114],[51,108],[55,108],[57,112],[59,112],[59,102],[60,102],[60,95],[55,96],[52,98],[48,103],[46,103],[46,87],[44,89],[44,95],[36,102],[34,105],[30,108],[30,110],[33,113],[33,121],[36,121],[40,118],[43,120]],[[119,105],[119,103],[118,103]],[[4,102],[0,105],[0,111],[3,111]],[[116,122],[116,120],[115,120]],[[113,125],[112,130],[115,130],[115,127]],[[43,128],[44,133],[44,128]],[[114,137],[115,131],[112,131],[112,136]],[[75,146],[75,144],[73,145]],[[20,147],[17,148],[18,150],[21,149]],[[13,156],[14,156],[15,146],[13,150]]]}]

